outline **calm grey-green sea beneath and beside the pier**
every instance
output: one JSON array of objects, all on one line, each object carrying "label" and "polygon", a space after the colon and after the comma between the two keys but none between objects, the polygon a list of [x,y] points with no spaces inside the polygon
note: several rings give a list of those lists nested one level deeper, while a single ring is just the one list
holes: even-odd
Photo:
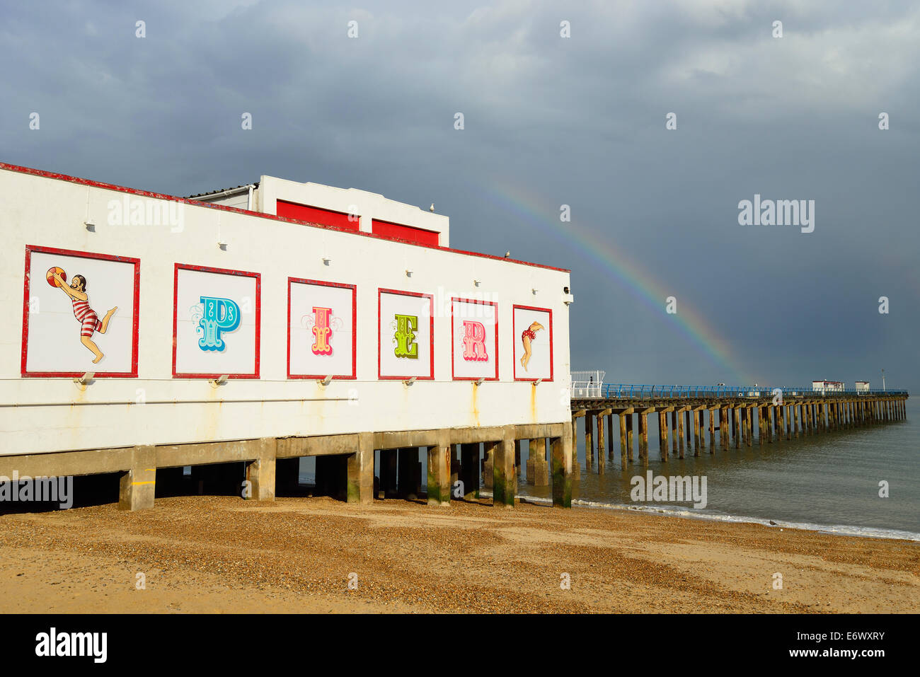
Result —
[{"label": "calm grey-green sea beneath and beside the pier", "polygon": [[[583,424],[578,425],[581,477],[573,482],[572,504],[597,510],[649,511],[674,517],[721,522],[757,522],[867,537],[920,541],[920,399],[909,398],[907,419],[846,430],[822,432],[798,439],[760,444],[699,456],[685,451],[679,459],[673,440],[666,462],[661,461],[658,420],[650,417],[649,466],[634,462],[621,470],[618,419],[614,422],[614,457],[604,453],[604,473],[585,465]],[[596,433],[595,433],[596,434]],[[634,438],[636,435],[634,434]],[[717,445],[719,435],[716,435]],[[634,439],[634,443],[636,440]],[[595,440],[596,444],[596,440]],[[518,495],[550,503],[548,487],[525,481],[529,445],[521,445]],[[634,452],[638,459],[638,452]],[[426,454],[420,453],[422,483],[427,477]],[[314,480],[313,459],[303,459],[301,481]],[[638,493],[638,478],[652,476],[706,478],[706,507],[684,501],[650,500]],[[483,491],[484,495],[488,493]],[[639,498],[639,499],[637,499]],[[642,500],[645,498],[646,500]],[[676,497],[672,497],[676,498]]]}]

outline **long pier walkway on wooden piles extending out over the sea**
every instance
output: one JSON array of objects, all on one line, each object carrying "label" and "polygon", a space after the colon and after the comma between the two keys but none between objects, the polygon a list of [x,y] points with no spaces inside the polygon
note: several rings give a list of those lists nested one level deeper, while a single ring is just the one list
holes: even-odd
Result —
[{"label": "long pier walkway on wooden piles extending out over the sea", "polygon": [[[590,375],[589,375],[590,374]],[[583,419],[585,465],[604,473],[602,454],[649,464],[649,425],[658,418],[661,461],[783,442],[830,430],[906,419],[905,390],[815,390],[806,386],[604,384],[603,372],[572,373],[572,439]],[[614,434],[618,419],[618,435]],[[708,434],[707,434],[708,430]],[[638,448],[637,448],[638,447]],[[573,473],[580,473],[573,464]]]}]

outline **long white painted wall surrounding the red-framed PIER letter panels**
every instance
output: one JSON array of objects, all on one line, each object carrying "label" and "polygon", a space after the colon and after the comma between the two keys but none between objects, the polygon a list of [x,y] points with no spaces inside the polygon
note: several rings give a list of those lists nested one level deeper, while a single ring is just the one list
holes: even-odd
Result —
[{"label": "long white painted wall surrounding the red-framed PIER letter panels", "polygon": [[[180,203],[180,228],[109,224],[109,201],[122,201],[124,193],[6,169],[0,169],[0,190],[5,196],[0,202],[0,232],[5,236],[0,249],[0,310],[6,318],[6,331],[0,334],[0,453],[570,420],[565,390],[569,310],[562,303],[569,273],[203,205]],[[155,201],[129,197],[144,205]],[[95,233],[84,226],[87,209]],[[374,216],[407,222],[395,213]],[[225,251],[217,246],[218,240],[226,243]],[[138,378],[98,378],[81,391],[69,378],[20,376],[27,245],[141,259]],[[328,266],[324,257],[330,259]],[[207,380],[172,377],[176,262],[261,273],[259,380],[231,380],[213,388]],[[413,270],[411,277],[407,269]],[[312,380],[286,378],[289,276],[357,284],[355,380],[324,387]],[[481,281],[479,287],[474,279]],[[406,386],[378,381],[378,287],[434,295],[433,382]],[[481,386],[454,382],[451,297],[484,295],[499,304],[500,380]],[[513,381],[512,304],[552,309],[553,383]],[[69,320],[75,322],[73,317]]]}]

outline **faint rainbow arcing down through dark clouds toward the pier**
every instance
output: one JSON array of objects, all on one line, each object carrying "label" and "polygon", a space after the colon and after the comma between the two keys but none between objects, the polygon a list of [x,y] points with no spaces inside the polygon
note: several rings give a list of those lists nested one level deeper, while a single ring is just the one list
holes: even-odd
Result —
[{"label": "faint rainbow arcing down through dark clouds toward the pier", "polygon": [[[523,221],[535,226],[540,232],[575,250],[582,260],[588,261],[606,278],[620,283],[635,298],[657,313],[664,313],[665,299],[673,294],[665,291],[649,271],[644,270],[635,257],[627,256],[617,250],[598,235],[598,229],[591,229],[575,224],[562,223],[558,219],[558,207],[549,207],[542,202],[545,199],[520,186],[511,186],[507,181],[493,181],[490,186],[470,185],[471,189],[482,193],[501,209],[512,212]],[[547,214],[552,214],[548,216]],[[678,313],[666,316],[667,326],[676,328],[687,341],[696,346],[709,361],[723,370],[726,375],[735,378],[738,384],[751,384],[753,379],[734,358],[730,343],[719,336],[716,330],[707,324],[696,308],[685,299],[680,299]],[[725,381],[730,383],[730,381]]]}]

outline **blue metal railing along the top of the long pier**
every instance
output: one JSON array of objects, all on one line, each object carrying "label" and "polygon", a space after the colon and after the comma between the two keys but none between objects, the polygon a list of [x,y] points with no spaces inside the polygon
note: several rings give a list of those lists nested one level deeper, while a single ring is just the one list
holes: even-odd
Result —
[{"label": "blue metal railing along the top of the long pier", "polygon": [[867,390],[815,389],[805,385],[653,385],[653,384],[584,384],[572,382],[573,397],[606,399],[654,399],[699,397],[768,397],[776,391],[783,396],[907,396],[906,390],[870,388]]}]

